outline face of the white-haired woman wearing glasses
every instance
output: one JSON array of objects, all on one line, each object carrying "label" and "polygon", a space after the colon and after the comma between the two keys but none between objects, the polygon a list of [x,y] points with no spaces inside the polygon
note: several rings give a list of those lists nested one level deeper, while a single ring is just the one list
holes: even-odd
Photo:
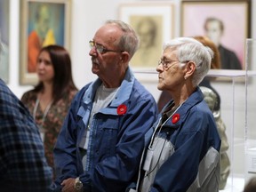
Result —
[{"label": "face of the white-haired woman wearing glasses", "polygon": [[180,68],[180,61],[176,56],[176,52],[171,47],[168,47],[163,52],[162,63],[156,68],[158,72],[157,89],[159,90],[176,90],[184,82],[185,72],[183,68]]}]

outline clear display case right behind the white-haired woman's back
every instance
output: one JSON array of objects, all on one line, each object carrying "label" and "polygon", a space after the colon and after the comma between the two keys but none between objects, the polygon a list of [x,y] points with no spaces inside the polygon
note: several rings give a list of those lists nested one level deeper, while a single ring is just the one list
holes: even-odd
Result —
[{"label": "clear display case right behind the white-haired woman's back", "polygon": [[220,113],[226,125],[230,172],[226,187],[221,192],[241,192],[244,189],[244,119],[245,70],[211,70],[216,77],[212,86],[220,93]]}]

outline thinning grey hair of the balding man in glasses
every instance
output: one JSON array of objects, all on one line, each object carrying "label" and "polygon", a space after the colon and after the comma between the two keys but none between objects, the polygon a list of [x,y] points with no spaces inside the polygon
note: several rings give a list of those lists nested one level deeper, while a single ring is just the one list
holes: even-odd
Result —
[{"label": "thinning grey hair of the balding man in glasses", "polygon": [[124,35],[120,37],[118,47],[122,51],[129,52],[131,60],[133,54],[138,50],[139,36],[130,25],[122,20],[107,20],[106,24],[114,24],[122,29]]}]

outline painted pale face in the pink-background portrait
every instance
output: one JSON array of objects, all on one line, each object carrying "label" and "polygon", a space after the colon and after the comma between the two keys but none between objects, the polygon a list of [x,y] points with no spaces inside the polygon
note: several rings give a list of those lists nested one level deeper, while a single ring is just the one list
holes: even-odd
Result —
[{"label": "painted pale face in the pink-background portrait", "polygon": [[206,24],[205,28],[206,36],[208,36],[212,40],[212,42],[218,46],[220,44],[220,38],[222,36],[220,22],[217,20],[212,20]]}]

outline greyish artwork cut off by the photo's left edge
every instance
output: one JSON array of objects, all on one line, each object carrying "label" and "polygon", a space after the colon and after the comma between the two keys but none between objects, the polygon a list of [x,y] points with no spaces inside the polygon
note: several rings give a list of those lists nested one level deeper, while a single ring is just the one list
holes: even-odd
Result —
[{"label": "greyish artwork cut off by the photo's left edge", "polygon": [[9,83],[10,1],[0,0],[0,78]]}]

